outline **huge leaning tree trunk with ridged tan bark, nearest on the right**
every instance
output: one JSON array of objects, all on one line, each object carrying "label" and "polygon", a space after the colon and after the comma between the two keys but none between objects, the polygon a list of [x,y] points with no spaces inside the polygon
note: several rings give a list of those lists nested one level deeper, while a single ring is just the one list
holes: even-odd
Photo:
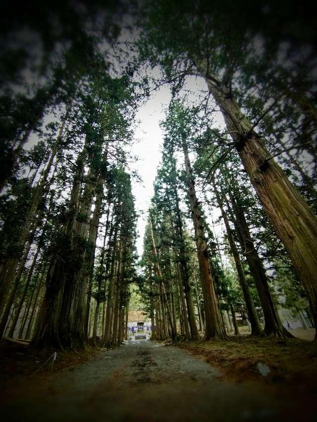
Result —
[{"label": "huge leaning tree trunk with ridged tan bark, nearest on the right", "polygon": [[[264,141],[243,115],[228,88],[208,73],[204,60],[196,65],[220,107],[235,148],[248,173],[267,217],[283,242],[299,280],[303,284],[315,326],[317,326],[317,218],[299,192],[291,185]],[[317,340],[317,333],[315,336]]]}]

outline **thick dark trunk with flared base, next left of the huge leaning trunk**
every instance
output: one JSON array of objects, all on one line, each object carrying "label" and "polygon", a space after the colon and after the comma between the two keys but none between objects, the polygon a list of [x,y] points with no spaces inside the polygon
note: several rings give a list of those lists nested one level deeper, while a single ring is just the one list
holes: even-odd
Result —
[{"label": "thick dark trunk with flared base, next left of the huge leaning trunk", "polygon": [[[269,291],[268,280],[264,270],[262,260],[259,257],[257,249],[252,241],[250,230],[242,208],[238,206],[232,193],[229,193],[235,214],[234,223],[237,227],[237,233],[241,241],[241,246],[245,251],[245,256],[259,292],[261,306],[264,313],[264,335],[277,337],[291,337],[292,335],[283,327],[279,318],[271,292]],[[230,205],[227,202],[228,209]]]}]

